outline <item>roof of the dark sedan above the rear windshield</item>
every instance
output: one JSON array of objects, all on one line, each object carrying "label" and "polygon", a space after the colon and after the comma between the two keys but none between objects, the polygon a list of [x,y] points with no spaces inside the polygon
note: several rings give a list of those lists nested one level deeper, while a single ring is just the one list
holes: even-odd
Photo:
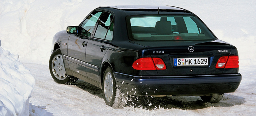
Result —
[{"label": "roof of the dark sedan above the rear windshield", "polygon": [[175,6],[101,6],[99,8],[106,9],[116,9],[124,12],[126,15],[142,15],[142,14],[190,14],[194,15],[192,12],[185,10],[183,8]]}]

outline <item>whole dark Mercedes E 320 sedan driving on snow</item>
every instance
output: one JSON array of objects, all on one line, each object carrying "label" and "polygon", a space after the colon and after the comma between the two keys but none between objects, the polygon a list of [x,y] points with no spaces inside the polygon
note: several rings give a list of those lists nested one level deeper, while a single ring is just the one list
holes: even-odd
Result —
[{"label": "whole dark Mercedes E 320 sedan driving on snow", "polygon": [[103,6],[54,35],[56,83],[84,80],[122,108],[130,96],[200,96],[219,102],[242,79],[235,46],[174,6]]}]

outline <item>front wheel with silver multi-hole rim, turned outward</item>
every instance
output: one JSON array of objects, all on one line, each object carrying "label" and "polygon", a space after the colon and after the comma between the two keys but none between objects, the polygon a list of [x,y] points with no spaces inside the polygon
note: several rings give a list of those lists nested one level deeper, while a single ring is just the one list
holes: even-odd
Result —
[{"label": "front wheel with silver multi-hole rim, turned outward", "polygon": [[56,49],[52,52],[49,60],[49,69],[52,79],[56,83],[70,84],[75,83],[78,80],[78,78],[66,74],[60,49]]}]

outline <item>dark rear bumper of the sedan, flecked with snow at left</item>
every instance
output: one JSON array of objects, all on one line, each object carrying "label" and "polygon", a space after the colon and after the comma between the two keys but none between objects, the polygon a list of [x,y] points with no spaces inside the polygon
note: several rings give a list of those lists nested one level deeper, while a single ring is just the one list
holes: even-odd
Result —
[{"label": "dark rear bumper of the sedan, flecked with snow at left", "polygon": [[200,95],[234,92],[241,74],[137,77],[114,72],[116,84],[128,95]]}]

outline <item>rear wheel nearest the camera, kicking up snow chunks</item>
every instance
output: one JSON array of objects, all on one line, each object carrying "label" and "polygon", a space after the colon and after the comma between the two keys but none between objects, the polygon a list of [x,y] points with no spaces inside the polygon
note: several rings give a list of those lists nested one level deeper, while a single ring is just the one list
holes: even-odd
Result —
[{"label": "rear wheel nearest the camera, kicking up snow chunks", "polygon": [[104,72],[102,83],[103,98],[105,103],[112,108],[123,108],[126,105],[126,95],[122,94],[113,75],[113,70],[108,67]]}]

